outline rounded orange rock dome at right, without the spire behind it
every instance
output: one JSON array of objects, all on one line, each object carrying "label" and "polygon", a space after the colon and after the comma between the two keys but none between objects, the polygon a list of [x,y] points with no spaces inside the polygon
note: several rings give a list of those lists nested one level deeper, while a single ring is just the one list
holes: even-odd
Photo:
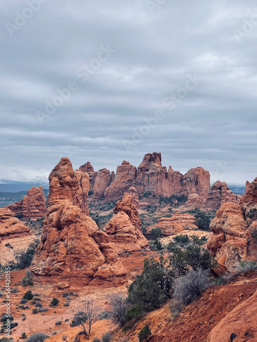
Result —
[{"label": "rounded orange rock dome at right, without the spire behind it", "polygon": [[252,239],[240,205],[224,203],[210,224],[212,235],[207,248],[230,272],[238,263],[257,258],[256,241]]}]

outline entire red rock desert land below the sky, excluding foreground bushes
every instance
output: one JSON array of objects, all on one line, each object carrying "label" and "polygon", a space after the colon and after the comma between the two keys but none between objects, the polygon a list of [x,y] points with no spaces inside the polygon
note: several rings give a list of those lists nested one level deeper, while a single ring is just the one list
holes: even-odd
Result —
[{"label": "entire red rock desert land below the sky, excluding foreground bushes", "polygon": [[[23,221],[14,217],[17,214]],[[42,221],[43,216],[40,244],[27,268],[33,282],[23,284],[26,269],[12,270],[12,314],[19,324],[12,337],[17,341],[23,332],[42,331],[49,342],[92,342],[110,331],[112,341],[138,342],[145,324],[151,328],[149,342],[257,339],[257,178],[247,182],[245,194],[238,196],[220,181],[210,188],[210,175],[203,168],[184,175],[171,167],[167,170],[160,153],[145,155],[138,168],[123,161],[116,174],[105,168],[95,172],[89,162],[73,170],[64,157],[49,175],[47,208],[42,188],[33,187],[23,200],[0,209],[1,265],[14,261],[15,252],[36,239],[25,222]],[[160,233],[154,238],[153,229]],[[180,260],[184,262],[183,253],[197,254],[197,248],[200,259],[209,250],[218,262],[208,266],[212,285],[204,293],[176,315],[172,290],[166,304],[146,310],[125,329],[111,321],[110,294],[127,295],[143,272],[145,259],[168,258],[171,267],[175,250],[184,255]],[[252,270],[240,271],[245,261]],[[156,284],[159,272],[156,269]],[[174,273],[173,282],[180,276]],[[166,283],[167,274],[163,279]],[[0,278],[2,290],[3,281]],[[39,304],[34,300],[21,305],[29,289]],[[86,340],[70,323],[89,296],[101,306],[104,318],[94,324]],[[56,307],[50,305],[53,298],[59,300]],[[45,311],[38,311],[42,306]]]}]

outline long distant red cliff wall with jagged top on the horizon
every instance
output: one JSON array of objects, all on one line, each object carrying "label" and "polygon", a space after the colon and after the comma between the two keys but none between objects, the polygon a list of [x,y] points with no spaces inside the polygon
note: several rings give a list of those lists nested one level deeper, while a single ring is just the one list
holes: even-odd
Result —
[{"label": "long distant red cliff wall with jagged top on the horizon", "polygon": [[150,192],[158,196],[171,196],[173,194],[191,195],[193,192],[199,196],[201,202],[205,202],[210,190],[210,174],[203,168],[193,168],[181,174],[173,171],[171,166],[167,170],[162,166],[161,153],[147,153],[142,163],[136,168],[128,161],[123,161],[118,166],[116,174],[102,169],[94,172],[88,162],[79,168],[90,176],[90,191],[92,198],[118,200],[125,192],[134,187],[138,194]]}]

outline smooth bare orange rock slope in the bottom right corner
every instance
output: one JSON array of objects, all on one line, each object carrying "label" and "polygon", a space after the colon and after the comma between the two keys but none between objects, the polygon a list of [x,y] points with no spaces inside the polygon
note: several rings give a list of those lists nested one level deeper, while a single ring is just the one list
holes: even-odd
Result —
[{"label": "smooth bare orange rock slope in the bottom right corner", "polygon": [[256,341],[257,339],[257,291],[252,297],[245,300],[226,315],[208,335],[208,342],[231,341],[232,334],[236,335],[234,341]]}]

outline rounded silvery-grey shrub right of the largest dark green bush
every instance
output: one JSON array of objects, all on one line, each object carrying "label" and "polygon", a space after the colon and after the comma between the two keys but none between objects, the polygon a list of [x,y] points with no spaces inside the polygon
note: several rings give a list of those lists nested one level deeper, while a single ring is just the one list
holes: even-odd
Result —
[{"label": "rounded silvery-grey shrub right of the largest dark green bush", "polygon": [[176,302],[188,305],[212,285],[208,270],[191,269],[175,282],[173,296]]}]

